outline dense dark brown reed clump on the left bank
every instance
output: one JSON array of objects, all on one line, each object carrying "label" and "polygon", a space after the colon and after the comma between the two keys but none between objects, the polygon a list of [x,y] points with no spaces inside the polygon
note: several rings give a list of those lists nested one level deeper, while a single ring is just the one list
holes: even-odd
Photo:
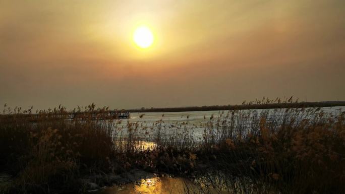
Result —
[{"label": "dense dark brown reed clump on the left bank", "polygon": [[[86,109],[86,118],[93,109]],[[61,107],[35,115],[16,111],[0,116],[0,161],[3,170],[15,175],[11,192],[75,191],[76,177],[83,170],[109,166],[113,121],[66,120],[61,117],[65,112]]]}]

